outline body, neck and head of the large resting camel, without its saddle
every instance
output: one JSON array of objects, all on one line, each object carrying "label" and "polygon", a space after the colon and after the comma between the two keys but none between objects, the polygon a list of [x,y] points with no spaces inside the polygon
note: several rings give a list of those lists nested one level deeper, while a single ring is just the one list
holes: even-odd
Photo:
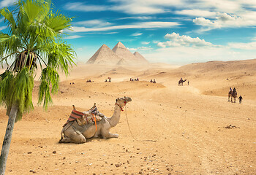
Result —
[{"label": "body, neck and head of the large resting camel, without its saddle", "polygon": [[[59,143],[73,142],[76,144],[83,144],[86,142],[86,139],[97,138],[100,136],[103,139],[117,138],[118,134],[110,133],[110,128],[117,125],[120,120],[120,113],[129,101],[132,101],[132,98],[125,96],[124,98],[117,98],[112,117],[102,117],[102,120],[97,122],[97,130],[93,123],[82,126],[78,125],[77,120],[67,123],[61,131],[61,139]],[[74,128],[77,128],[80,131],[75,131]]]}]

